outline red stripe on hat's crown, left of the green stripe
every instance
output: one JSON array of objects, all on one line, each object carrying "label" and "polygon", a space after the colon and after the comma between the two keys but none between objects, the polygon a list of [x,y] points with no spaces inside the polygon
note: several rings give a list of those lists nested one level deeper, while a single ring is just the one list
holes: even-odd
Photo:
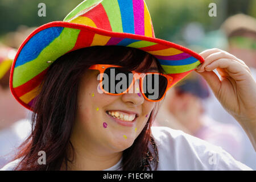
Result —
[{"label": "red stripe on hat's crown, left of the green stripe", "polygon": [[[97,16],[95,16],[97,14]],[[81,15],[86,16],[93,20],[93,22],[96,24],[97,28],[102,28],[105,30],[112,31],[112,28],[110,26],[108,15],[106,14],[106,11],[104,7],[101,5],[97,5],[94,7],[93,11],[88,11],[87,13]]]}]

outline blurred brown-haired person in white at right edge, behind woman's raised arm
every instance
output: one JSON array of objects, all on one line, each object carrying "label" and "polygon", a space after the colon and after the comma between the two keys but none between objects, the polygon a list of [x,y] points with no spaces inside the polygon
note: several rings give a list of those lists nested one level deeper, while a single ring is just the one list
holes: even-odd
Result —
[{"label": "blurred brown-haired person in white at right edge, behind woman's raised arm", "polygon": [[[245,14],[233,15],[222,23],[220,30],[225,33],[228,39],[226,51],[243,60],[250,68],[254,80],[256,80],[256,19]],[[216,73],[218,75],[218,72]],[[251,146],[249,138],[242,127],[238,125],[236,119],[218,102],[211,90],[210,97],[204,101],[204,106],[205,113],[210,115],[210,117],[222,123],[236,126],[240,130],[242,134],[242,147],[244,148],[241,162],[255,170],[256,152],[253,146]]]}]

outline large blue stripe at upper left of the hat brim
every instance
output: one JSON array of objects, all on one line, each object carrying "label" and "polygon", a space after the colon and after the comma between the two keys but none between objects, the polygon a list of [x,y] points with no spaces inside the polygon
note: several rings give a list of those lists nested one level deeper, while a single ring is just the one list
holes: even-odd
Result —
[{"label": "large blue stripe at upper left of the hat brim", "polygon": [[63,28],[64,27],[46,28],[32,36],[20,51],[15,63],[15,68],[36,59],[43,49],[61,34]]}]

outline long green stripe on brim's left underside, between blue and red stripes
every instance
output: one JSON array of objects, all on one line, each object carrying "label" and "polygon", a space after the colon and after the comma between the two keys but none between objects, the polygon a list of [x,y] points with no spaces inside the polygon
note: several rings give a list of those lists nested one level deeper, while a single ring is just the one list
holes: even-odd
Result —
[{"label": "long green stripe on brim's left underside, between blue and red stripes", "polygon": [[[44,48],[36,59],[16,67],[13,73],[13,87],[16,88],[26,83],[48,68],[51,64],[47,61],[55,61],[70,51],[76,44],[79,32],[79,29],[64,28],[60,36]],[[53,51],[54,53],[52,53]]]}]

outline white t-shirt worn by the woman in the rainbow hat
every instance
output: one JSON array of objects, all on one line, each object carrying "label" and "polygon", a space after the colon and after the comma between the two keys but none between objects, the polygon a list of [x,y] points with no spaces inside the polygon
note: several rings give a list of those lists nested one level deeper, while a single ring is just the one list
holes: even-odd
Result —
[{"label": "white t-shirt worn by the woman in the rainbow hat", "polygon": [[[158,170],[252,170],[235,160],[221,147],[168,127],[151,127],[152,137],[158,147]],[[1,170],[12,170],[18,159]],[[116,170],[122,159],[105,169]]]}]

